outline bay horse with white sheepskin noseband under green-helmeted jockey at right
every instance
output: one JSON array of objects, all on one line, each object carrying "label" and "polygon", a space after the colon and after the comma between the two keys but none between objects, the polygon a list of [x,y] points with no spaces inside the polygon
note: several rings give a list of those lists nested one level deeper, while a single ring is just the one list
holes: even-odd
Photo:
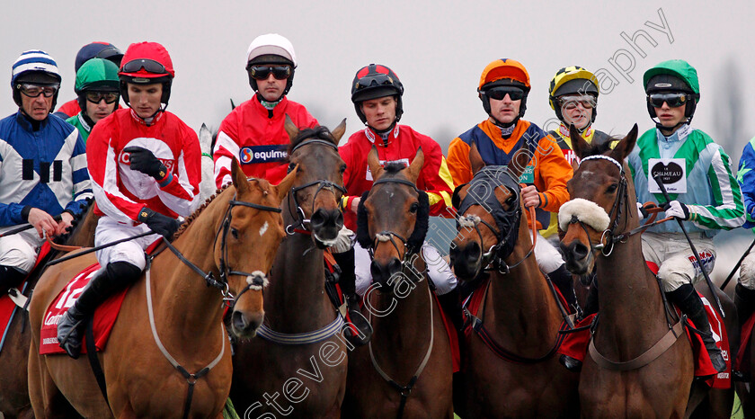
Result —
[{"label": "bay horse with white sheepskin noseband under green-helmeted jockey at right", "polygon": [[[593,264],[597,267],[600,321],[592,337],[594,350],[611,362],[635,360],[670,333],[664,297],[644,262],[641,237],[612,240],[639,227],[635,184],[625,162],[635,147],[637,126],[612,150],[587,144],[575,129],[572,135],[574,152],[582,163],[573,166],[568,191],[573,200],[594,202],[597,206],[589,204],[589,212],[599,215],[573,215],[562,239],[564,259],[574,273],[588,272]],[[596,218],[608,219],[608,227],[596,226]],[[698,283],[697,290],[714,300],[705,282]],[[725,326],[733,330],[733,303],[722,291],[716,292],[724,306]],[[729,338],[736,353],[738,334]],[[624,371],[601,368],[592,356],[585,357],[580,380],[582,415],[729,417],[733,388],[708,392],[703,383],[693,381],[692,356],[690,343],[682,336],[653,361],[644,365],[637,361],[636,368]]]}]

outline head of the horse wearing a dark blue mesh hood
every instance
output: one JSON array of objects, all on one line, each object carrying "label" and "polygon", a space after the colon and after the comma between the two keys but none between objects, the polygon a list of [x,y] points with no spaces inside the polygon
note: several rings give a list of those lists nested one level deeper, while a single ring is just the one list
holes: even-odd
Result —
[{"label": "head of the horse wearing a dark blue mesh hood", "polygon": [[459,185],[452,198],[458,234],[451,242],[450,260],[460,280],[474,280],[513,252],[522,222],[519,179],[531,157],[523,147],[508,166],[486,166],[472,145],[469,161],[475,176]]}]

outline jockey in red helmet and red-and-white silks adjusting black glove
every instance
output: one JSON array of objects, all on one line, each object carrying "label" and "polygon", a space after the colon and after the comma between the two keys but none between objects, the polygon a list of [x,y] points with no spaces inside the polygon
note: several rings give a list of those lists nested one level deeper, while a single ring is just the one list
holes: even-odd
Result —
[{"label": "jockey in red helmet and red-and-white silks adjusting black glove", "polygon": [[141,233],[97,252],[102,270],[58,322],[58,341],[71,357],[81,352],[81,325],[115,292],[136,281],[146,266],[145,249],[160,236],[171,239],[191,215],[200,191],[197,134],[165,111],[173,82],[173,62],[156,42],[131,44],[120,67],[120,91],[129,108],[114,111],[94,126],[86,160],[102,215],[94,245]]}]

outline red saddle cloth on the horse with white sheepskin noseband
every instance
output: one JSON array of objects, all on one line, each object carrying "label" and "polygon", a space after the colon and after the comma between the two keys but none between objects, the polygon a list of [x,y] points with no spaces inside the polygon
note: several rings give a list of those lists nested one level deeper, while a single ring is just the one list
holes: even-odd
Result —
[{"label": "red saddle cloth on the horse with white sheepskin noseband", "polygon": [[[718,316],[705,297],[700,295],[700,298],[703,299],[703,305],[706,308],[708,321],[710,322],[711,330],[713,331],[716,340],[715,344],[724,354],[724,361],[726,361],[727,368],[724,372],[717,372],[713,368],[713,364],[710,361],[710,356],[708,355],[702,338],[698,334],[690,334],[689,330],[685,328],[695,356],[695,377],[709,377],[706,382],[711,388],[731,388],[732,378],[728,371],[732,370],[732,361],[729,357],[729,338],[726,334],[726,328],[724,327],[724,320]],[[577,325],[574,325],[574,327],[580,328],[582,326],[590,326],[594,317],[595,315],[587,316]],[[566,334],[564,344],[561,345],[558,353],[584,361],[584,357],[587,354],[588,344],[590,343],[590,337],[590,328],[585,328],[580,332]]]}]

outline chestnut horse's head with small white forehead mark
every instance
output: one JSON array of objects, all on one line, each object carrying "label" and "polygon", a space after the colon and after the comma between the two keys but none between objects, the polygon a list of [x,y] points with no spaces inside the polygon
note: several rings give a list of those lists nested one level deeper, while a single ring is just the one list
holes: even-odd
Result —
[{"label": "chestnut horse's head with small white forehead mark", "polygon": [[236,296],[231,327],[235,335],[246,338],[256,334],[264,319],[262,289],[285,236],[280,202],[289,193],[297,169],[278,185],[247,179],[235,159],[231,172],[233,188],[226,193],[233,196],[216,229],[214,257],[221,280],[226,277],[227,289]]}]

